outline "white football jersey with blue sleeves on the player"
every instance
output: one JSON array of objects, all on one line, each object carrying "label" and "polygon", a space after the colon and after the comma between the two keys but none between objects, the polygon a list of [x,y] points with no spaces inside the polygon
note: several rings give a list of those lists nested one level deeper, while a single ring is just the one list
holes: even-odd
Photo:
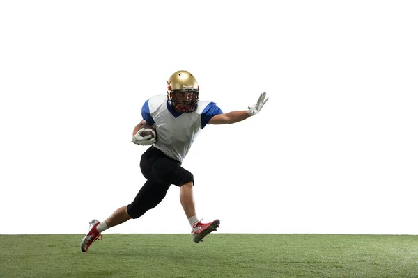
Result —
[{"label": "white football jersey with blue sleeves on the player", "polygon": [[[147,102],[149,110],[146,107]],[[204,125],[213,115],[222,113],[216,104],[210,101],[199,101],[194,112],[176,113],[167,103],[167,95],[150,97],[146,104],[142,110],[144,120],[149,124],[155,122],[157,129],[154,146],[180,162],[189,152]],[[206,114],[202,119],[203,111]]]}]

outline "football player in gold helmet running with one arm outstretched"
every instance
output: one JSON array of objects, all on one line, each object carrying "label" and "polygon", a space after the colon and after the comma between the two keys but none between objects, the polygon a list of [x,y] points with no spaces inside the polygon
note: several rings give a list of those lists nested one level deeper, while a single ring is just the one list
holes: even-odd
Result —
[{"label": "football player in gold helmet running with one arm outstretched", "polygon": [[[181,167],[193,141],[208,124],[233,124],[256,115],[268,101],[263,92],[254,106],[244,111],[223,113],[210,101],[199,100],[199,86],[192,74],[185,70],[173,73],[167,81],[167,95],[155,95],[142,106],[143,119],[134,127],[132,142],[150,146],[141,156],[141,172],[146,182],[132,203],[118,208],[109,218],[92,220],[88,234],[82,239],[82,252],[97,239],[102,231],[144,215],[164,199],[171,184],[180,188],[183,206],[195,243],[219,227],[219,220],[202,223],[194,208],[193,174]],[[142,137],[144,124],[154,125],[157,139]]]}]

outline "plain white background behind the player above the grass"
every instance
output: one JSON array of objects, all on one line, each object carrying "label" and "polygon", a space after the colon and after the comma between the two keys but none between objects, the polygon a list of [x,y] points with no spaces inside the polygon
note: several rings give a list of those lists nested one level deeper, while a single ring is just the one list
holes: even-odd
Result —
[{"label": "plain white background behind the player above the grass", "polygon": [[[0,234],[85,234],[144,183],[176,70],[245,122],[183,166],[222,233],[418,234],[416,1],[1,1]],[[106,233],[189,233],[179,189]]]}]

